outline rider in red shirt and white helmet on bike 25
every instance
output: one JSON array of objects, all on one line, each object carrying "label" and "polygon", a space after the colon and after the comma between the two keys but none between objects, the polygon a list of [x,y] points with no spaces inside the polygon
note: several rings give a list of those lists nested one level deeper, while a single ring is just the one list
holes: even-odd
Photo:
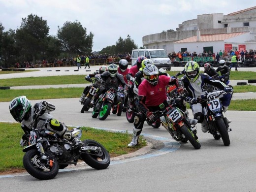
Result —
[{"label": "rider in red shirt and white helmet on bike 25", "polygon": [[176,84],[179,88],[178,92],[183,91],[181,81],[175,77],[165,75],[159,76],[158,68],[153,64],[148,64],[143,69],[143,80],[139,85],[139,103],[140,112],[134,118],[133,136],[128,147],[138,144],[138,138],[142,131],[144,121],[147,119],[152,121],[155,116],[153,111],[160,110],[159,105],[166,102],[165,87],[170,84]]}]

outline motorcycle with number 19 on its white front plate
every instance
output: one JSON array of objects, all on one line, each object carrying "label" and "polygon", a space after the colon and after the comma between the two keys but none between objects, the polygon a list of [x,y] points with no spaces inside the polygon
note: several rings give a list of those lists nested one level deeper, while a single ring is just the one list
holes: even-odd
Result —
[{"label": "motorcycle with number 19 on its white front plate", "polygon": [[214,91],[207,93],[205,98],[197,98],[203,107],[203,115],[207,121],[209,132],[214,139],[222,138],[224,146],[230,145],[228,132],[229,128],[227,118],[225,117],[224,109],[221,104],[220,96],[228,94],[224,91]]}]

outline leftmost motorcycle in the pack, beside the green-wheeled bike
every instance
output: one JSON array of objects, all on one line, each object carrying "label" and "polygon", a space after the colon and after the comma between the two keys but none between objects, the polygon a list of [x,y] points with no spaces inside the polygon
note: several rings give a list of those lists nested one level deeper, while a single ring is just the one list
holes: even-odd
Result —
[{"label": "leftmost motorcycle in the pack, beside the green-wheeled bike", "polygon": [[96,93],[96,90],[98,88],[98,85],[95,84],[96,79],[93,80],[93,79],[89,78],[87,80],[92,83],[92,86],[91,86],[90,90],[88,91],[87,95],[85,96],[84,101],[81,103],[83,105],[83,107],[81,109],[81,113],[84,113],[85,111],[88,111],[90,109],[91,100],[93,99],[93,97]]}]

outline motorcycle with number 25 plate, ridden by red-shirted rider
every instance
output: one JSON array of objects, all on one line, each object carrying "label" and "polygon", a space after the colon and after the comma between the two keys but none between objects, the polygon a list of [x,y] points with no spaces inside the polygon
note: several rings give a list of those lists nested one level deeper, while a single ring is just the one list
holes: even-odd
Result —
[{"label": "motorcycle with number 25 plate, ridden by red-shirted rider", "polygon": [[201,144],[198,141],[195,126],[189,123],[185,112],[177,107],[181,105],[179,102],[183,102],[183,98],[184,96],[180,95],[167,101],[168,104],[161,103],[159,105],[161,110],[153,112],[155,115],[153,121],[160,118],[162,126],[171,134],[173,139],[183,143],[190,141],[195,149],[200,149]]}]

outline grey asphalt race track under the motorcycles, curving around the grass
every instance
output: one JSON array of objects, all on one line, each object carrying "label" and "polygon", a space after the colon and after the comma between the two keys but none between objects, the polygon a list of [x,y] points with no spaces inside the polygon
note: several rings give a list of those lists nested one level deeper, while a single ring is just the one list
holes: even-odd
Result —
[{"label": "grey asphalt race track under the motorcycles, curving around the grass", "polygon": [[[80,113],[79,98],[48,101],[56,106],[53,116],[66,125],[132,131],[133,125],[125,114],[111,114],[105,121],[99,121],[91,118],[91,109]],[[0,102],[0,121],[14,121],[8,105],[9,102]],[[162,126],[155,129],[145,123],[142,133],[150,142],[147,150],[112,160],[107,169],[68,166],[68,171],[60,172],[50,181],[39,181],[27,173],[0,176],[0,191],[255,192],[256,111],[227,111],[226,115],[232,120],[228,147],[222,139],[215,140],[210,133],[203,133],[200,125],[197,135],[201,148],[195,150],[190,143],[172,140]],[[152,147],[156,149],[149,149]]]}]

